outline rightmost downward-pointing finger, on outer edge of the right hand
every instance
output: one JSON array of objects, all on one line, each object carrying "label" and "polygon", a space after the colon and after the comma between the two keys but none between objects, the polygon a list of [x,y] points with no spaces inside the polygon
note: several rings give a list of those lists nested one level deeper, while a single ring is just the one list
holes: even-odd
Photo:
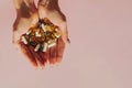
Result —
[{"label": "rightmost downward-pointing finger, on outer edge of the right hand", "polygon": [[63,58],[63,54],[64,54],[64,50],[65,50],[65,43],[63,41],[63,38],[58,38],[57,41],[57,63],[62,62]]}]

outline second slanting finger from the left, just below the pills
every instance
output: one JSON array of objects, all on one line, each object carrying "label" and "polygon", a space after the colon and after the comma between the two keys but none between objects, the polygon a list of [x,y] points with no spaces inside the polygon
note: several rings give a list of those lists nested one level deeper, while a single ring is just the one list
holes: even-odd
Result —
[{"label": "second slanting finger from the left, just below the pills", "polygon": [[32,54],[34,55],[36,62],[42,67],[44,65],[43,58],[38,55],[38,52],[34,52],[34,48],[30,45],[29,48],[31,50]]}]

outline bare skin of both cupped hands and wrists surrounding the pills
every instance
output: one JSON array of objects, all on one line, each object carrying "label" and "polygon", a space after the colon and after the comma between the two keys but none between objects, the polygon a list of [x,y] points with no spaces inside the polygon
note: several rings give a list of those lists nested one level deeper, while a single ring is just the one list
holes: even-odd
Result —
[{"label": "bare skin of both cupped hands and wrists surrounding the pills", "polygon": [[[58,0],[40,0],[37,8],[33,0],[14,0],[16,19],[13,24],[13,43],[20,50],[34,67],[44,67],[46,63],[56,64],[63,58],[65,45],[68,41],[66,16],[58,7]],[[58,25],[62,36],[54,47],[44,52],[34,52],[31,45],[25,45],[20,41],[22,34],[26,33],[29,28],[36,24],[38,19],[48,18],[51,22]]]}]

